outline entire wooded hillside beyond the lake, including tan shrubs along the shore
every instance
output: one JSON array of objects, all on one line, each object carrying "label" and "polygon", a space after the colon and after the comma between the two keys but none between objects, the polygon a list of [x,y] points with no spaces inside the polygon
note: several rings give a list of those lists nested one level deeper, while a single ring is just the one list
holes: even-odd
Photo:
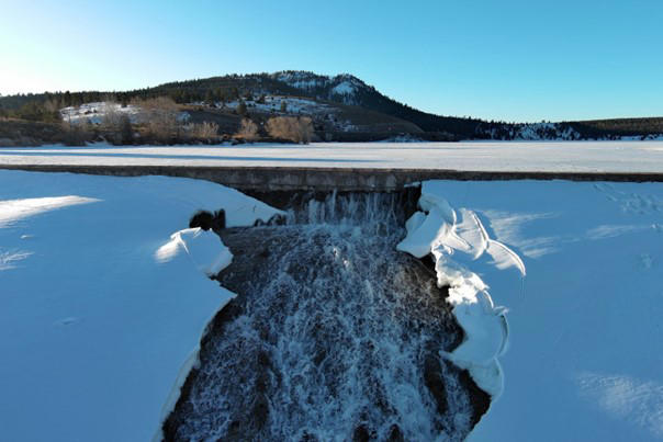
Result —
[{"label": "entire wooded hillside beyond the lake, including tan shrubs along the shore", "polygon": [[[106,111],[115,110],[106,115]],[[126,111],[130,110],[130,111]],[[120,116],[124,120],[120,121]],[[270,118],[307,135],[269,131]],[[276,121],[276,120],[274,120]],[[380,93],[350,75],[305,71],[229,75],[177,81],[124,92],[53,92],[0,97],[0,144],[105,139],[116,144],[218,143],[222,140],[380,139],[619,139],[663,134],[663,117],[515,124],[425,113]],[[42,126],[63,124],[40,138]],[[248,125],[248,126],[247,126]],[[271,127],[276,127],[276,123]],[[281,124],[283,126],[283,124]],[[12,128],[13,127],[13,128]],[[247,127],[251,127],[247,132]],[[284,127],[284,126],[283,126]],[[43,132],[43,131],[42,131]]]}]

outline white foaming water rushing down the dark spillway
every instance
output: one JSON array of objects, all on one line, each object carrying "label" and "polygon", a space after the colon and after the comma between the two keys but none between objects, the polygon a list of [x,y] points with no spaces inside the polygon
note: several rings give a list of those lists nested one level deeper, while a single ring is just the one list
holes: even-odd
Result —
[{"label": "white foaming water rushing down the dark spillway", "polygon": [[458,329],[434,277],[395,250],[398,195],[311,200],[285,225],[227,229],[238,297],[165,426],[172,440],[462,440]]}]

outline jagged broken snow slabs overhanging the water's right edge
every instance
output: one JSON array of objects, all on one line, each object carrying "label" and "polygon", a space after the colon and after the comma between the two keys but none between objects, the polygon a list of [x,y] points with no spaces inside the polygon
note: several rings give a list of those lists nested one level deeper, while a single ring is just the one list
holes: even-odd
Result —
[{"label": "jagged broken snow slabs overhanging the water's right edge", "polygon": [[432,253],[437,283],[449,287],[448,302],[454,306],[453,314],[465,335],[463,342],[445,356],[468,369],[476,384],[496,398],[503,388],[497,358],[507,345],[506,310],[493,304],[487,285],[459,261],[488,254],[497,269],[513,267],[522,276],[525,264],[507,246],[488,237],[474,212],[453,209],[435,182],[424,183],[419,207],[424,212],[408,219],[407,236],[396,248],[417,258]]}]

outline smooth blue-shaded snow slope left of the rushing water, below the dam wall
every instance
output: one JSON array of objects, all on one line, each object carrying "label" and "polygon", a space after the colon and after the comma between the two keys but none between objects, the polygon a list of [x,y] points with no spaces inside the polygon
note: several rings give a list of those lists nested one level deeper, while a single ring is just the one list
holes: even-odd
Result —
[{"label": "smooth blue-shaded snow slope left of the rushing water, below the dam wall", "polygon": [[[205,181],[0,171],[0,439],[148,441],[233,296],[205,273],[276,211]],[[183,230],[182,230],[183,229]]]}]

